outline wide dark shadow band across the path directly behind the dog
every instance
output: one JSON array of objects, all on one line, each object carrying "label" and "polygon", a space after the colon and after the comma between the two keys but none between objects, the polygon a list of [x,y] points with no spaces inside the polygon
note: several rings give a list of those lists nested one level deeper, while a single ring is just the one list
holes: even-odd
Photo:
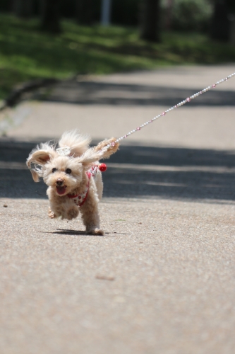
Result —
[{"label": "wide dark shadow band across the path directly behind the dog", "polygon": [[[47,198],[25,159],[35,143],[0,140],[1,198]],[[235,200],[235,152],[121,146],[103,173],[104,197]]]}]

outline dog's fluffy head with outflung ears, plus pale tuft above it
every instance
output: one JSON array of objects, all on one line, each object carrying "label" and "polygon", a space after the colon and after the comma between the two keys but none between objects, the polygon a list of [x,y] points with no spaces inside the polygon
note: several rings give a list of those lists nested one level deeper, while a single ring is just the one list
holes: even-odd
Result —
[{"label": "dog's fluffy head with outflung ears, plus pale tuft above it", "polygon": [[[89,142],[89,137],[73,130],[62,135],[58,149],[50,142],[37,146],[26,162],[33,180],[38,182],[42,177],[44,183],[53,188],[57,195],[71,193],[79,187],[86,171],[95,161],[109,157],[118,148],[114,138],[93,148],[89,148]],[[35,164],[34,169],[31,169],[31,164]]]}]

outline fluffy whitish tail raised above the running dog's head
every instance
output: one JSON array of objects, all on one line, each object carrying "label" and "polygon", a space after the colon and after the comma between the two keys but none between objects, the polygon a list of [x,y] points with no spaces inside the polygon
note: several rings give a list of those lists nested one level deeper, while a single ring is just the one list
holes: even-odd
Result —
[{"label": "fluffy whitish tail raised above the running dog's head", "polygon": [[59,140],[59,147],[69,147],[74,157],[84,154],[89,148],[91,138],[89,135],[80,135],[78,130],[64,132]]}]

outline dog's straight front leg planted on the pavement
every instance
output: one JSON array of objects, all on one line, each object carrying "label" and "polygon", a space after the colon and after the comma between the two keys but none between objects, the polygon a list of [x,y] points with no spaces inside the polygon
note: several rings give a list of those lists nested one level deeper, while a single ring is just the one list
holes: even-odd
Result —
[{"label": "dog's straight front leg planted on the pavement", "polygon": [[104,232],[100,229],[100,216],[98,211],[98,196],[95,188],[90,187],[88,198],[85,203],[80,207],[85,231],[88,235],[103,235]]}]

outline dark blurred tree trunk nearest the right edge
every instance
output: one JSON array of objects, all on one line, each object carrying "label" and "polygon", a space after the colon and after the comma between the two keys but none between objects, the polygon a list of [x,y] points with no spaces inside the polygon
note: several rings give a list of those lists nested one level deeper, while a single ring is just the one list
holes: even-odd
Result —
[{"label": "dark blurred tree trunk nearest the right edge", "polygon": [[215,1],[211,23],[211,38],[227,42],[229,40],[230,23],[228,9],[224,0]]}]

